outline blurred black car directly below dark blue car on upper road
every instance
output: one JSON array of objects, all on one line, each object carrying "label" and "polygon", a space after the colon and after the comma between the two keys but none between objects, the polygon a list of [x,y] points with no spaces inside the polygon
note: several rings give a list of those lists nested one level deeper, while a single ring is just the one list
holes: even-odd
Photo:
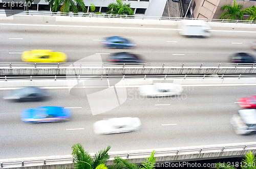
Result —
[{"label": "blurred black car directly below dark blue car on upper road", "polygon": [[142,61],[140,57],[136,54],[129,53],[129,52],[118,52],[112,54],[109,62],[114,63],[144,63],[145,61]]}]

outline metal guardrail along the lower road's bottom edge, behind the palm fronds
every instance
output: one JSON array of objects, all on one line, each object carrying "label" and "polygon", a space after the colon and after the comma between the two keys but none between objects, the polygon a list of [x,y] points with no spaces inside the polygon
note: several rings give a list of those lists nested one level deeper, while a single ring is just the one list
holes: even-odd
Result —
[{"label": "metal guardrail along the lower road's bottom edge, behind the palm fronds", "polygon": [[[170,155],[182,155],[182,154],[202,154],[202,153],[213,153],[213,152],[228,152],[228,151],[246,151],[246,150],[256,150],[256,144],[255,143],[248,143],[248,144],[233,144],[233,145],[221,145],[221,146],[213,146],[213,147],[207,147],[202,146],[201,148],[180,148],[180,149],[170,149],[167,148],[165,150],[162,149],[156,149],[155,150],[155,157],[161,157],[161,156],[170,156]],[[122,152],[122,153],[111,153],[110,160],[112,160],[114,157],[119,156],[122,158],[146,158],[150,156],[152,151],[145,150],[143,152]],[[94,154],[91,154],[92,156]],[[73,157],[70,155],[70,157],[57,157],[57,158],[37,158],[37,159],[26,159],[26,160],[0,160],[0,168],[10,168],[10,167],[26,167],[26,166],[38,166],[38,165],[54,165],[54,164],[70,164],[74,163]]]}]

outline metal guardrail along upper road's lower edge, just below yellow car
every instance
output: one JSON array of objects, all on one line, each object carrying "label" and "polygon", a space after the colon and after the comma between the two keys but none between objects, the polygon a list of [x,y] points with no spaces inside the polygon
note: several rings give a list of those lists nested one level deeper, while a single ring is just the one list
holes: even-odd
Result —
[{"label": "metal guardrail along upper road's lower edge, just below yellow car", "polygon": [[0,69],[4,68],[88,68],[88,67],[117,67],[117,68],[254,68],[253,64],[235,63],[0,63]]}]

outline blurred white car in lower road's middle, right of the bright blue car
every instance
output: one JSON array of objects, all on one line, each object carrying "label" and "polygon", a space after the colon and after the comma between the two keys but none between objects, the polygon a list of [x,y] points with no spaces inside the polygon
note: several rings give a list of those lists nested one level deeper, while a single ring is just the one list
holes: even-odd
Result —
[{"label": "blurred white car in lower road's middle, right of the bright blue car", "polygon": [[124,133],[139,130],[141,122],[139,118],[112,118],[97,121],[93,124],[96,134]]}]

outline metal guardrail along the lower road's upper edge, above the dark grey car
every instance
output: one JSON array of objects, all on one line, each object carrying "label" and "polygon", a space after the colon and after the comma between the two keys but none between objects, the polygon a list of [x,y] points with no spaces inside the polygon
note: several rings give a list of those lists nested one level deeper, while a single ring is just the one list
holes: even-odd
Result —
[{"label": "metal guardrail along the lower road's upper edge, above the dark grey car", "polygon": [[67,75],[67,76],[2,76],[0,81],[11,81],[11,80],[84,80],[84,79],[106,79],[106,78],[115,78],[115,79],[190,79],[190,78],[200,78],[200,79],[209,79],[209,78],[256,78],[256,75],[95,75],[95,76],[86,76],[86,75]]}]

